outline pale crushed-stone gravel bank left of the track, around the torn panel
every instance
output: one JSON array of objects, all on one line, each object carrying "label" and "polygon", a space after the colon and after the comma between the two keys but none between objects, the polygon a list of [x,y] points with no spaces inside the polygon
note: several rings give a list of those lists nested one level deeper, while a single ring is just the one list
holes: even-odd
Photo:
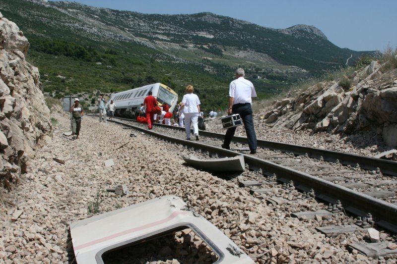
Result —
[{"label": "pale crushed-stone gravel bank left of the track, around the torn panel", "polygon": [[[68,115],[55,112],[52,117],[58,120],[52,143],[28,161],[21,183],[2,197],[0,260],[4,263],[67,263],[68,224],[91,215],[88,205],[98,191],[101,212],[164,195],[179,196],[257,263],[373,262],[345,247],[366,239],[365,233],[331,239],[314,229],[348,219],[299,221],[289,214],[296,210],[294,204],[266,205],[265,197],[254,197],[234,182],[186,166],[182,155],[187,150],[182,146],[137,132],[130,137],[131,130],[88,116],[82,120],[80,138],[72,140],[63,136],[70,127]],[[104,165],[109,158],[115,161],[112,167]],[[250,172],[242,177],[246,173]],[[128,186],[127,196],[104,191],[119,184]],[[291,196],[280,187],[271,189],[265,196]],[[318,210],[323,205],[308,201],[306,207]],[[391,261],[395,260],[380,259]]]}]

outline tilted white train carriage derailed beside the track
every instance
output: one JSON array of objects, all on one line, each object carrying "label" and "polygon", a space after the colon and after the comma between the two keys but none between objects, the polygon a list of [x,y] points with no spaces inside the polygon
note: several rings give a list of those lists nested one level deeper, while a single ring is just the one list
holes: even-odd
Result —
[{"label": "tilted white train carriage derailed beside the track", "polygon": [[140,105],[143,104],[143,100],[149,91],[152,91],[152,96],[157,99],[157,102],[161,105],[168,104],[171,112],[174,110],[178,103],[178,94],[162,83],[149,84],[131,90],[113,93],[106,104],[106,109],[110,101],[113,100],[116,104],[116,116],[135,119]]}]

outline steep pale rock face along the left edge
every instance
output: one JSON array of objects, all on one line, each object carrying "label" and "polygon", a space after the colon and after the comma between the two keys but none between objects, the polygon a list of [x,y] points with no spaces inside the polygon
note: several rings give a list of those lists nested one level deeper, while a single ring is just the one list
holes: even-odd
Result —
[{"label": "steep pale rock face along the left edge", "polygon": [[29,42],[1,13],[0,41],[0,180],[9,189],[43,140],[51,140],[52,126],[39,70],[25,60]]}]

